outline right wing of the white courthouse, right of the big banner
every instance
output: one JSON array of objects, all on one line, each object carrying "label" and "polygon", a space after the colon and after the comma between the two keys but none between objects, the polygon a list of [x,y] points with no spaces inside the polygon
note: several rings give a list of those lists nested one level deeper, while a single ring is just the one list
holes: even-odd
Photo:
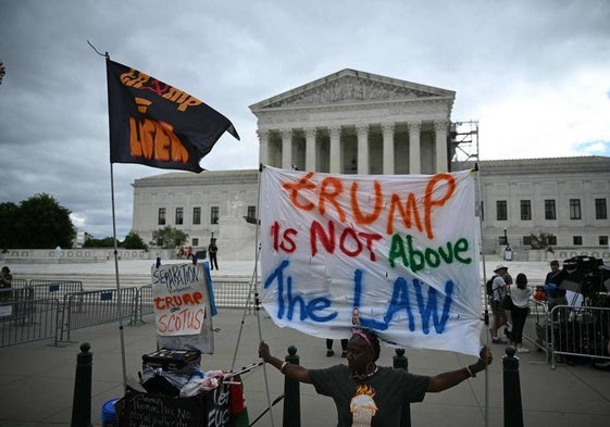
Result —
[{"label": "right wing of the white courthouse, right of the big banner", "polygon": [[481,161],[486,251],[531,249],[531,235],[552,235],[558,259],[588,254],[610,261],[610,158]]}]

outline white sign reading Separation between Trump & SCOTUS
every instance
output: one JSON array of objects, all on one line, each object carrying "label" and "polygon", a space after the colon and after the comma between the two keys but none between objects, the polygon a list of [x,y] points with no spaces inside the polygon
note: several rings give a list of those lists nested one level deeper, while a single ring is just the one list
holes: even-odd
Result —
[{"label": "white sign reading Separation between Trump & SCOTUS", "polygon": [[151,275],[159,346],[213,353],[211,287],[203,264],[153,266]]}]

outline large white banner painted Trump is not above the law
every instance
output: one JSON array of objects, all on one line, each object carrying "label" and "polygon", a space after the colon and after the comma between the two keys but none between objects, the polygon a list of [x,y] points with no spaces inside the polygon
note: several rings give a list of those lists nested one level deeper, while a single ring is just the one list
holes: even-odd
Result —
[{"label": "large white banner painted Trump is not above the law", "polygon": [[[334,175],[265,166],[262,304],[279,326],[480,351],[475,177]],[[352,321],[352,314],[358,318]]]}]

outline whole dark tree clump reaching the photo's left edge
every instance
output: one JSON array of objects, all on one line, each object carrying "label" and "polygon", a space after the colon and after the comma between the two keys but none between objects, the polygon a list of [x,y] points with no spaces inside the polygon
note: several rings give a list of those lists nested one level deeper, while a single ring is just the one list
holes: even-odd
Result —
[{"label": "whole dark tree clump reaching the photo's left edge", "polygon": [[2,249],[72,248],[76,228],[70,218],[71,213],[46,193],[24,200],[18,206],[1,203]]}]

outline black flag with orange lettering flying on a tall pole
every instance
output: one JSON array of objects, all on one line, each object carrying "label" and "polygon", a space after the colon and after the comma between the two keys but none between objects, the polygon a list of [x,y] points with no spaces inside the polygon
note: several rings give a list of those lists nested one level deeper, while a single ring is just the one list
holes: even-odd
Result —
[{"label": "black flag with orange lettering flying on a tall pole", "polygon": [[110,162],[203,171],[199,161],[228,131],[224,115],[145,73],[107,60]]}]

